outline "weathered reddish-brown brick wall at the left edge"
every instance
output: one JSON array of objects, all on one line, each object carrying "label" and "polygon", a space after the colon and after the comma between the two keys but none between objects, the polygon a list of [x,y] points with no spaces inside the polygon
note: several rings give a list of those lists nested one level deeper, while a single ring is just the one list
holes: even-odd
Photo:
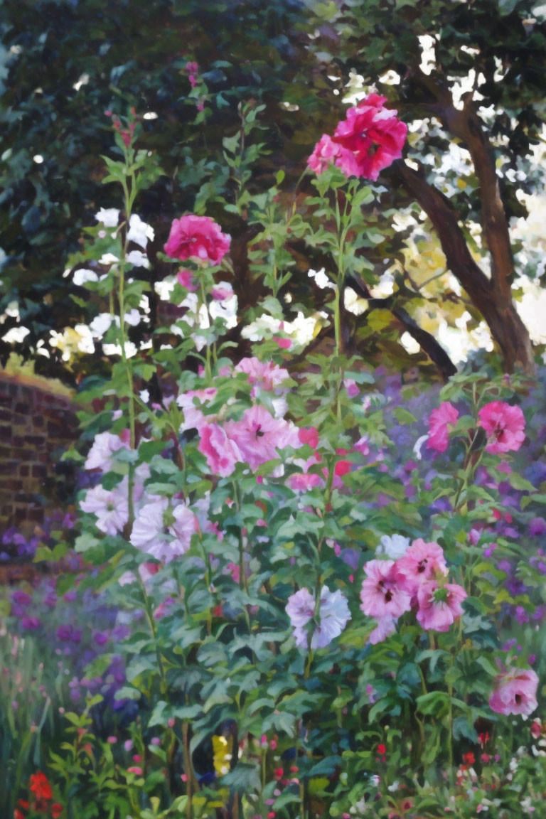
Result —
[{"label": "weathered reddish-brown brick wall at the left edge", "polygon": [[69,499],[74,472],[59,458],[77,437],[71,396],[41,378],[0,373],[0,532],[41,523]]}]

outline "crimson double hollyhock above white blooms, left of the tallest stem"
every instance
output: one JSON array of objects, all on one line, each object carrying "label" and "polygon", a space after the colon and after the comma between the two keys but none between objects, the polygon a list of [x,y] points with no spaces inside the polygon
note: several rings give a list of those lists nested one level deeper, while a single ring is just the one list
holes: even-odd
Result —
[{"label": "crimson double hollyhock above white blooms, left of the tallest stem", "polygon": [[171,259],[197,259],[219,265],[230,242],[231,238],[210,216],[187,215],[174,219],[164,250]]}]

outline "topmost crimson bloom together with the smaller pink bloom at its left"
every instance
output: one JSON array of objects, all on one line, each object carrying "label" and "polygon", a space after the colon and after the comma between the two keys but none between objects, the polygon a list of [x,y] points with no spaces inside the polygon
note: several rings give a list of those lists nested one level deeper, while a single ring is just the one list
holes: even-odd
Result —
[{"label": "topmost crimson bloom together with the smaller pink bloom at its left", "polygon": [[381,170],[402,156],[408,126],[385,108],[386,97],[369,94],[347,111],[333,137],[324,133],[307,164],[317,174],[336,165],[347,176],[375,181]]}]

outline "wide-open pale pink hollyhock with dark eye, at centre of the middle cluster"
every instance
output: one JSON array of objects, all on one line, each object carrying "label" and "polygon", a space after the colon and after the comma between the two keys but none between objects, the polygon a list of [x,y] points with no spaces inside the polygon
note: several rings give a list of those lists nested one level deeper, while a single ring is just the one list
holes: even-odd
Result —
[{"label": "wide-open pale pink hollyhock with dark eye, at centre of the middle cluster", "polygon": [[263,406],[246,409],[239,421],[229,421],[225,431],[235,441],[241,459],[255,470],[268,460],[278,458],[286,446],[300,447],[298,430],[293,423],[275,419]]}]

